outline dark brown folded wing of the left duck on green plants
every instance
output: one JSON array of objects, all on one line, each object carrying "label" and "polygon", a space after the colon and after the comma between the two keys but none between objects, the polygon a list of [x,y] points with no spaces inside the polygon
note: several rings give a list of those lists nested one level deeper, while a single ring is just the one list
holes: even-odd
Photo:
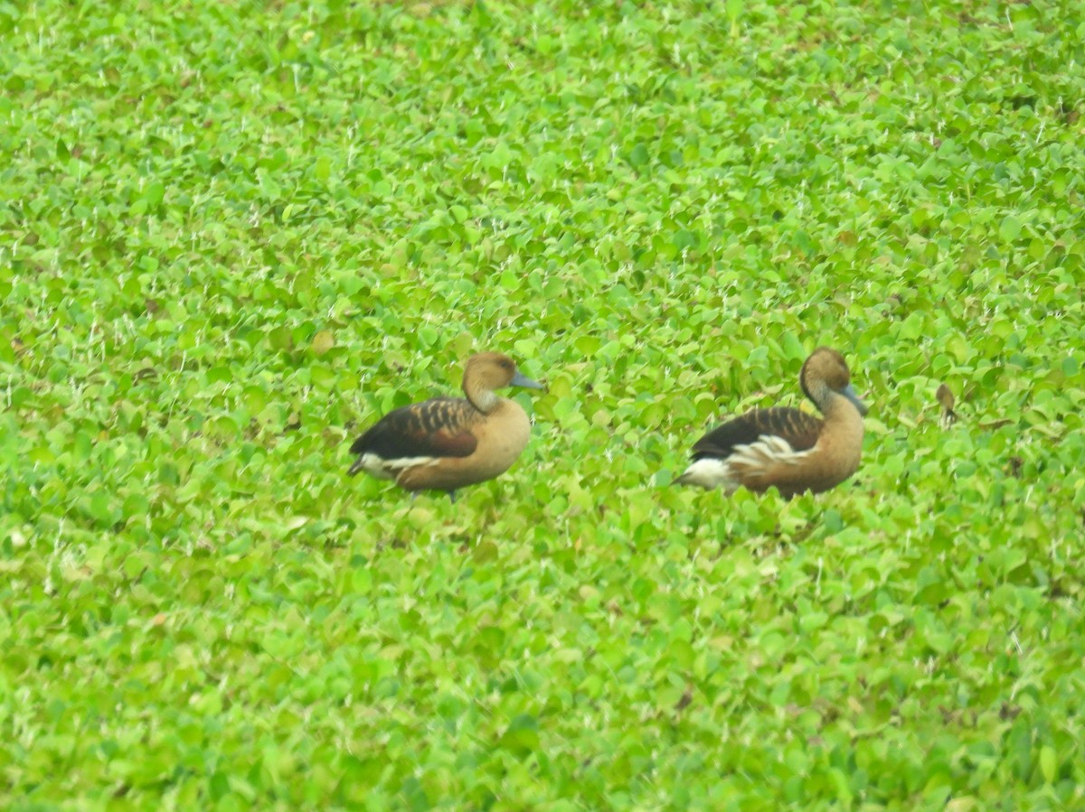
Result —
[{"label": "dark brown folded wing of the left duck on green plants", "polygon": [[382,460],[470,456],[478,441],[478,410],[462,398],[433,398],[388,412],[350,446],[352,454]]}]

